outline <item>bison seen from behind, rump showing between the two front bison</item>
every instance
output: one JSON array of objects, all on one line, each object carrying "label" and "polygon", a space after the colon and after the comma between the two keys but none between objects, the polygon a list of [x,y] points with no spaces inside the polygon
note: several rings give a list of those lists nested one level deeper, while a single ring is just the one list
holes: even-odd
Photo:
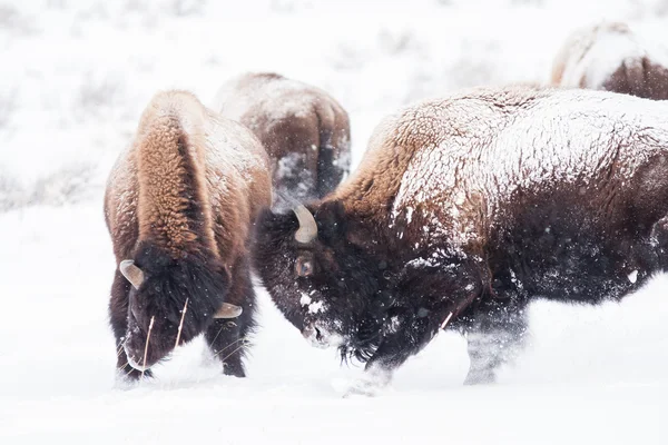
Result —
[{"label": "bison seen from behind, rump showing between the two front bison", "polygon": [[214,108],[262,141],[276,206],[323,198],[350,170],[348,116],[325,91],[276,73],[245,73],[220,87]]}]

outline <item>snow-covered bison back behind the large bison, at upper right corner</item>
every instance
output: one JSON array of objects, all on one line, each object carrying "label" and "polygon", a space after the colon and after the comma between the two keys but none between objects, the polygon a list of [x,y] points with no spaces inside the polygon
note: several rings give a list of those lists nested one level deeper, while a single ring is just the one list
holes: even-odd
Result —
[{"label": "snow-covered bison back behind the large bison, at upper right corner", "polygon": [[668,52],[619,22],[576,30],[557,55],[552,83],[668,99]]}]

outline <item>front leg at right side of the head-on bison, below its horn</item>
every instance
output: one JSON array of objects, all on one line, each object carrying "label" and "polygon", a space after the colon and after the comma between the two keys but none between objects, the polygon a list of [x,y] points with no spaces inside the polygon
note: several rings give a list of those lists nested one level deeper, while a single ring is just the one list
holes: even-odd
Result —
[{"label": "front leg at right side of the head-on bison, below its horn", "polygon": [[204,337],[214,357],[223,364],[223,373],[235,377],[245,377],[244,356],[249,345],[248,336],[254,324],[255,291],[247,269],[237,268],[237,278],[229,289],[226,300],[244,308],[234,319],[216,319],[207,328]]}]

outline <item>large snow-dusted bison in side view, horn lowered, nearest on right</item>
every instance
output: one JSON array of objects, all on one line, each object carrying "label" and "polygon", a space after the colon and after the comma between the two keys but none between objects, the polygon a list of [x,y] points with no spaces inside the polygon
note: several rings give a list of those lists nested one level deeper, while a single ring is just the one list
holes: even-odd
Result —
[{"label": "large snow-dusted bison in side view, horn lowered, nearest on right", "polygon": [[667,214],[668,102],[475,89],[383,120],[324,200],[261,214],[254,261],[313,345],[366,362],[353,390],[444,327],[468,333],[473,384],[532,298],[620,298],[665,269]]}]

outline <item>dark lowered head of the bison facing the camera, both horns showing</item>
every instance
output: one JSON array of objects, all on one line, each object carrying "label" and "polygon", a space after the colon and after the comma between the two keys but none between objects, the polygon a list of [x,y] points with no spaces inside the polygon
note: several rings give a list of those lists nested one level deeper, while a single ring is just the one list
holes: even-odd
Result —
[{"label": "dark lowered head of the bison facing the camera, both horns showing", "polygon": [[138,251],[119,265],[131,284],[125,352],[134,368],[149,368],[214,318],[240,314],[240,307],[223,303],[229,280],[215,257],[184,254],[175,259],[155,245]]}]

